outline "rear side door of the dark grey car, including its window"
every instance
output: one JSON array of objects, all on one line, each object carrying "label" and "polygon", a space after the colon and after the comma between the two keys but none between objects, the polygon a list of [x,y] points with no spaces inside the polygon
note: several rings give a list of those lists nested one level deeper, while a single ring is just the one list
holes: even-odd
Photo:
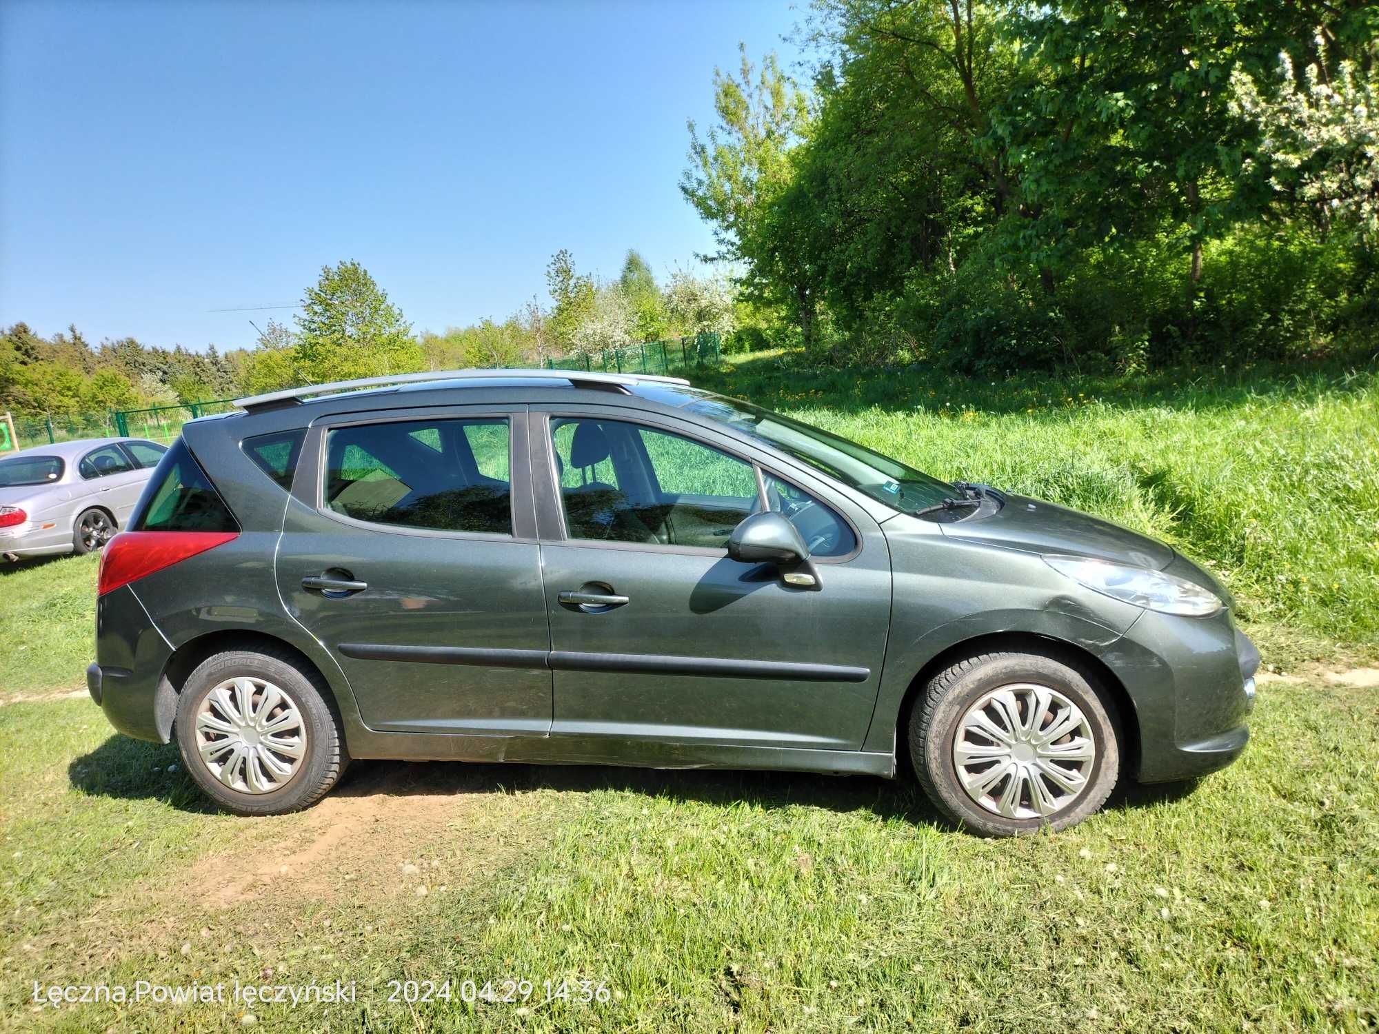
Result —
[{"label": "rear side door of the dark grey car, including its window", "polygon": [[370,728],[549,732],[524,407],[445,407],[308,433],[279,590],[335,653]]}]

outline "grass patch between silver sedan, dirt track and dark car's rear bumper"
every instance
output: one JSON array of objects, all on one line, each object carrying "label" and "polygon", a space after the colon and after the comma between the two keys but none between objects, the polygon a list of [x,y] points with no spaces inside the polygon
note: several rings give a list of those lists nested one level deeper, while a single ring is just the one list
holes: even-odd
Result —
[{"label": "grass patch between silver sedan, dirt track and dark car's rear bumper", "polygon": [[99,557],[0,561],[0,700],[85,687]]}]

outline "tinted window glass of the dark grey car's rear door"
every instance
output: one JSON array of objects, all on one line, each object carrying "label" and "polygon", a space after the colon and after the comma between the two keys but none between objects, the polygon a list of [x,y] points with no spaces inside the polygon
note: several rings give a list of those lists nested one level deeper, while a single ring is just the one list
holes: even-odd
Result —
[{"label": "tinted window glass of the dark grey car's rear door", "polygon": [[372,524],[512,535],[507,420],[394,420],[331,430],[325,505]]}]

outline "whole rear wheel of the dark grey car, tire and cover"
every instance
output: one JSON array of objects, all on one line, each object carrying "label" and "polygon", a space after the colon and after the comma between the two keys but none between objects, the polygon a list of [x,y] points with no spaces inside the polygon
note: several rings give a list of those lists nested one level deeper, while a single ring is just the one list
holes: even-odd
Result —
[{"label": "whole rear wheel of the dark grey car, tire and cover", "polygon": [[197,784],[237,815],[308,808],[349,764],[314,673],[268,651],[201,662],[178,698],[177,740]]}]

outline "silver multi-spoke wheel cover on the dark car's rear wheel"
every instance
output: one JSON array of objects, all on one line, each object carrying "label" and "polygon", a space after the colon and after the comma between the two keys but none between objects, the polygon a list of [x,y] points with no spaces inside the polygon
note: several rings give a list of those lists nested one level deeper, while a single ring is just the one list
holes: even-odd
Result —
[{"label": "silver multi-spoke wheel cover on the dark car's rear wheel", "polygon": [[306,757],[306,722],[291,696],[265,678],[226,678],[196,711],[201,764],[230,790],[283,789]]}]

